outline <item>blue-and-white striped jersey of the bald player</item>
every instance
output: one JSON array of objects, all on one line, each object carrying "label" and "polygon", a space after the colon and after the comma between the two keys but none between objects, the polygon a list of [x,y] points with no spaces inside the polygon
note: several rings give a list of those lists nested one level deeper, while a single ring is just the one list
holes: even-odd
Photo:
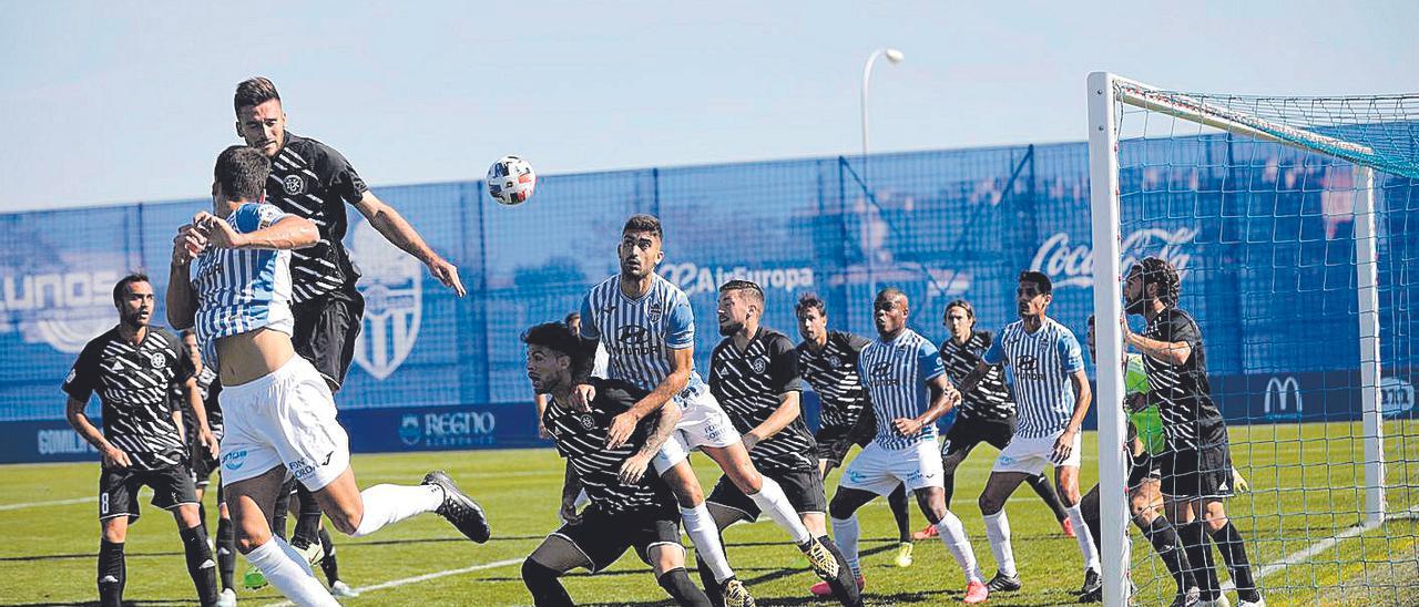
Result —
[{"label": "blue-and-white striped jersey of the bald player", "polygon": [[946,372],[941,355],[929,339],[902,329],[891,342],[874,339],[857,357],[857,372],[877,414],[877,437],[887,450],[904,450],[937,437],[937,424],[927,424],[914,437],[902,437],[893,420],[917,417],[931,407],[927,382]]}]

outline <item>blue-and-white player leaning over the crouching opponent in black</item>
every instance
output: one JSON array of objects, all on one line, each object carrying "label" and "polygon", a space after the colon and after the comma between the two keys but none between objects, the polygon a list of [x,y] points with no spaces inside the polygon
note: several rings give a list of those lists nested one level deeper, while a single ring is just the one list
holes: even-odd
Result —
[{"label": "blue-and-white player leaning over the crouching opponent in black", "polygon": [[[695,373],[695,319],[690,299],[656,274],[656,265],[666,258],[663,238],[656,217],[637,214],[626,220],[616,250],[620,272],[592,286],[582,302],[582,338],[606,347],[610,379],[648,391],[612,421],[607,447],[619,447],[640,420],[667,403],[680,407],[677,431],[653,464],[675,492],[685,533],[715,581],[724,586],[725,604],[752,604],[752,598],[729,569],[714,519],[704,505],[704,489],[690,468],[690,450],[695,448],[710,455],[735,488],[789,533],[819,577],[837,579],[837,559],[803,526],[779,484],[753,467],[739,433]],[[592,347],[595,345],[587,343],[587,352],[593,352]],[[595,387],[587,383],[585,370],[579,376],[572,404],[580,408],[593,400]]]}]

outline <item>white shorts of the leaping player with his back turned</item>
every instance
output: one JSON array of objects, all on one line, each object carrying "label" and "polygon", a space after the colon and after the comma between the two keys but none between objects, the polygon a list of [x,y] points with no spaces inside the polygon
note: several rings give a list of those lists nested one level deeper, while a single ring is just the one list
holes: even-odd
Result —
[{"label": "white shorts of the leaping player with his back turned", "polygon": [[335,397],[301,356],[265,377],[223,386],[221,414],[224,485],[285,465],[307,489],[318,491],[350,465],[350,441],[335,421]]}]

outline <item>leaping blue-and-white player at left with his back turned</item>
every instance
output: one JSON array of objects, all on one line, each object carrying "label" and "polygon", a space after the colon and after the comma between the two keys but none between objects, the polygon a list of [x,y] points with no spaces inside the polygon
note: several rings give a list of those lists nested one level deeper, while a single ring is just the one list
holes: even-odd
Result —
[{"label": "leaping blue-and-white player at left with his back turned", "polygon": [[417,486],[355,485],[329,386],[291,345],[289,251],[315,244],[318,233],[311,220],[260,203],[268,172],[254,147],[217,157],[213,213],[199,213],[173,238],[167,321],[196,328],[223,386],[221,465],[237,550],[297,604],[335,606],[305,559],[267,525],[287,474],[352,536],[423,512],[438,512],[475,542],[488,539],[488,525],[443,472]]}]

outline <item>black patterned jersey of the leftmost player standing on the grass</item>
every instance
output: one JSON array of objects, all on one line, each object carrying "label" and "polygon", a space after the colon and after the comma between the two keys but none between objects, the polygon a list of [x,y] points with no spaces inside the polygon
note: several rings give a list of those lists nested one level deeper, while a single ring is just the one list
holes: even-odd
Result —
[{"label": "black patterned jersey of the leftmost player standing on the grass", "polygon": [[135,347],[112,328],[94,338],[64,379],[64,391],[88,403],[98,391],[104,438],[128,454],[139,469],[182,464],[186,447],[173,421],[172,399],[180,397],[190,364],[179,357],[177,338],[149,328]]}]

